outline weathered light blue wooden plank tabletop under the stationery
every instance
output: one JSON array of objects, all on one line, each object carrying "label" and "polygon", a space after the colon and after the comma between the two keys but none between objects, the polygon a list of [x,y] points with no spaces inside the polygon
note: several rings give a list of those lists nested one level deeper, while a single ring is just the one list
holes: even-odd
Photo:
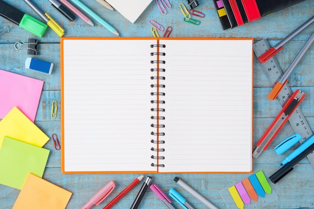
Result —
[{"label": "weathered light blue wooden plank tabletop under the stationery", "polygon": [[[6,0],[18,9],[40,19],[23,1]],[[34,1],[42,10],[50,14],[65,29],[65,37],[112,37],[114,36],[104,27],[94,21],[95,26],[83,22],[78,17],[74,22],[69,22],[61,16],[49,3],[49,1]],[[179,4],[186,1],[171,1],[172,8],[167,15],[162,15],[155,5],[155,1],[147,8],[140,18],[131,24],[119,13],[103,8],[96,1],[82,0],[93,11],[99,14],[112,24],[123,37],[152,37],[148,20],[155,20],[164,27],[172,26],[172,37],[250,37],[257,42],[267,39],[270,46],[274,46],[286,35],[296,29],[314,13],[314,1],[307,0],[278,13],[263,17],[260,20],[251,22],[238,28],[222,30],[217,11],[212,1],[199,1],[200,6],[196,9],[205,14],[205,18],[200,19],[199,26],[183,21]],[[31,33],[13,25],[11,22],[0,18],[0,28],[9,25],[11,32],[0,35],[0,69],[34,77],[44,80],[44,88],[39,103],[39,109],[35,124],[48,136],[57,134],[61,139],[61,111],[60,111],[60,37],[48,28],[45,36],[39,39],[38,59],[55,63],[53,73],[46,75],[25,68],[27,50],[16,50],[14,44],[17,41],[27,42],[29,38],[36,38]],[[309,26],[299,35],[289,41],[285,48],[276,55],[279,65],[283,71],[294,59],[297,52],[303,46],[308,37],[312,34],[314,25]],[[300,88],[306,96],[300,108],[311,129],[314,127],[314,46],[311,46],[295,70],[289,77],[289,85],[292,90]],[[254,57],[254,110],[253,110],[253,146],[267,129],[274,117],[279,113],[281,107],[277,100],[270,101],[267,95],[271,86],[266,75],[263,73],[260,63]],[[4,100],[5,98],[0,98]],[[58,101],[58,114],[55,119],[51,118],[52,101]],[[83,120],[83,119],[82,119]],[[273,151],[273,147],[286,137],[294,134],[291,126],[287,123],[277,135],[270,147],[257,159],[253,160],[253,172],[261,169],[267,176],[270,176],[280,167],[281,157]],[[294,150],[292,147],[289,152]],[[113,193],[100,205],[93,208],[102,208],[122,189],[124,189],[138,174],[62,174],[61,173],[61,152],[55,150],[53,141],[50,139],[44,148],[50,150],[48,163],[43,178],[59,185],[71,192],[72,197],[67,208],[80,208],[89,198],[96,193],[109,180],[116,182]],[[0,172],[4,172],[0,168]],[[184,191],[174,182],[174,177],[182,177],[194,189],[199,191],[205,198],[215,204],[218,208],[227,208],[219,191],[246,177],[249,173],[212,173],[212,174],[151,174],[155,183],[164,190],[171,187],[176,188],[195,208],[205,208],[205,206]],[[124,196],[112,208],[129,208],[135,198],[140,184]],[[265,208],[314,208],[314,171],[307,159],[301,160],[294,166],[294,170],[276,184],[272,184],[278,199]],[[20,190],[5,185],[0,185],[0,208],[12,208]],[[174,203],[176,208],[179,204]],[[139,208],[166,208],[165,205],[151,191],[144,196]]]}]

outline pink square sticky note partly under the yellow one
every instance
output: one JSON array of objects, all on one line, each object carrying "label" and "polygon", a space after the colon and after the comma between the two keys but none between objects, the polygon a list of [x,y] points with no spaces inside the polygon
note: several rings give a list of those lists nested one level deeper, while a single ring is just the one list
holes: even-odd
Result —
[{"label": "pink square sticky note partly under the yellow one", "polygon": [[0,70],[0,119],[14,107],[35,121],[44,81]]}]

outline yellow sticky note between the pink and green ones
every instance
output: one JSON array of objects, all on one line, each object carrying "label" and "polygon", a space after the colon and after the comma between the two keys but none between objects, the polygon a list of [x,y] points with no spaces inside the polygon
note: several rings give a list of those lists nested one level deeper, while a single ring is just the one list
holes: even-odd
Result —
[{"label": "yellow sticky note between the pink and green ones", "polygon": [[37,147],[44,146],[49,140],[49,137],[17,107],[14,107],[10,113],[0,121],[0,147],[5,136]]}]

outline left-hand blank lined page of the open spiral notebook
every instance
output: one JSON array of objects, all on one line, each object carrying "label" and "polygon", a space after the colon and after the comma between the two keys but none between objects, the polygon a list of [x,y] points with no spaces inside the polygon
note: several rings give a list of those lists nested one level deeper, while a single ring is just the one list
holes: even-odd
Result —
[{"label": "left-hand blank lined page of the open spiral notebook", "polygon": [[65,172],[156,171],[150,166],[154,43],[63,40]]}]

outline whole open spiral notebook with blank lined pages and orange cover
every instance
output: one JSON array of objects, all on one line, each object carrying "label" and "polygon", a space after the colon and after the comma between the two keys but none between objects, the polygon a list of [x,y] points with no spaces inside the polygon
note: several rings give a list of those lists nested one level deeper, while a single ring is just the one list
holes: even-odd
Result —
[{"label": "whole open spiral notebook with blank lined pages and orange cover", "polygon": [[252,44],[62,38],[62,171],[251,172]]}]

